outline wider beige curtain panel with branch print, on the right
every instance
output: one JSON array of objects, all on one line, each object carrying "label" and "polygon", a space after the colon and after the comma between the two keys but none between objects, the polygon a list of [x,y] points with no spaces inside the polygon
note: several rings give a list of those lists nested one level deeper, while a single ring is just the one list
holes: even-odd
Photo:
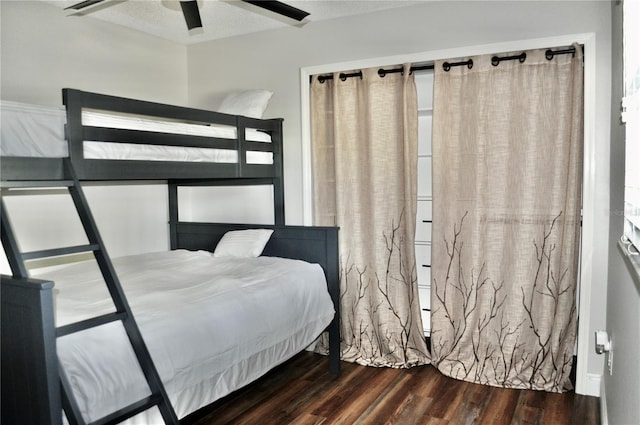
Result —
[{"label": "wider beige curtain panel with branch print, on the right", "polygon": [[431,354],[445,375],[569,386],[583,149],[574,47],[436,63]]}]

